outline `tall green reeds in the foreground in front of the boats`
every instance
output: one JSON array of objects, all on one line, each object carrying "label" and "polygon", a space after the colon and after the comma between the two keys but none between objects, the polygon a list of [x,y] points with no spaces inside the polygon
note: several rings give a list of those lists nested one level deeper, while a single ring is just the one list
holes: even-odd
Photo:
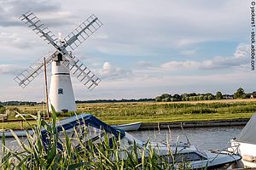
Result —
[{"label": "tall green reeds in the foreground in front of the boats", "polygon": [[[20,150],[9,150],[2,138],[1,169],[189,169],[189,163],[181,162],[174,167],[175,158],[172,151],[168,151],[169,159],[159,156],[157,148],[145,144],[143,148],[135,142],[122,144],[120,139],[112,138],[108,134],[96,141],[87,139],[86,127],[83,136],[79,130],[74,129],[74,136],[69,137],[64,131],[63,136],[56,133],[55,113],[52,115],[53,123],[49,126],[38,114],[38,124],[33,127],[34,135],[27,133],[26,143],[22,142],[14,132],[15,140],[20,145]],[[41,126],[49,133],[49,143],[44,147]],[[76,147],[79,144],[79,147]],[[61,145],[62,150],[58,149]],[[172,159],[173,163],[169,160]]]}]

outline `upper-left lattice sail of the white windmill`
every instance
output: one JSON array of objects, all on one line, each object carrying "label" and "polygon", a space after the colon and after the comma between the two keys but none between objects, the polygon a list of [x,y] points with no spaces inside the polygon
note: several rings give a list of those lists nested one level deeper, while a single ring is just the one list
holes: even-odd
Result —
[{"label": "upper-left lattice sail of the white windmill", "polygon": [[49,28],[46,27],[35,14],[29,11],[26,14],[22,14],[19,19],[30,27],[32,31],[35,31],[39,37],[42,37],[44,41],[51,43],[55,48],[58,48],[58,45],[55,43],[58,38],[55,37],[52,31],[49,31]]}]

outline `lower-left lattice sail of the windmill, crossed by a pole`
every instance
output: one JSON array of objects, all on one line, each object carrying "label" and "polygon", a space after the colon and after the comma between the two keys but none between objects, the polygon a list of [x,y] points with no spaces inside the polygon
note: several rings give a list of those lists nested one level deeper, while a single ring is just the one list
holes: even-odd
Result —
[{"label": "lower-left lattice sail of the windmill, crossed by a pole", "polygon": [[42,71],[44,71],[44,58],[46,65],[49,65],[52,62],[54,55],[55,54],[44,54],[43,57],[38,59],[25,71],[22,71],[17,77],[15,77],[15,82],[17,82],[21,88],[26,88],[26,86],[32,82],[33,79],[35,79]]}]

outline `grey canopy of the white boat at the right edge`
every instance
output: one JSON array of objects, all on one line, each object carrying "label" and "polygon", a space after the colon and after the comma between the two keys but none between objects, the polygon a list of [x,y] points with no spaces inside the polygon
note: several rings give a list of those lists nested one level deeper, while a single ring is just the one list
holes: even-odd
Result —
[{"label": "grey canopy of the white boat at the right edge", "polygon": [[256,114],[254,114],[247,125],[237,136],[236,141],[248,144],[256,144]]}]

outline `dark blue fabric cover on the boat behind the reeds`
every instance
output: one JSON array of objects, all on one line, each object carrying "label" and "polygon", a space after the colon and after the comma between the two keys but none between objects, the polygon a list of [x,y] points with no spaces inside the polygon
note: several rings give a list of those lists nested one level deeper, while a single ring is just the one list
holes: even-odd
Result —
[{"label": "dark blue fabric cover on the boat behind the reeds", "polygon": [[[125,137],[125,131],[121,129],[117,129],[115,127],[111,127],[105,122],[102,122],[101,120],[97,119],[95,116],[92,116],[90,114],[80,114],[76,116],[71,116],[66,119],[62,119],[59,122],[56,122],[56,133],[59,133],[63,131],[63,128],[67,131],[69,129],[73,129],[73,127],[78,127],[80,125],[91,126],[96,127],[98,129],[104,130],[106,133],[112,133],[116,138],[123,138]],[[44,140],[44,143],[48,143],[48,131],[46,129],[43,129],[41,131],[42,137]]]}]

